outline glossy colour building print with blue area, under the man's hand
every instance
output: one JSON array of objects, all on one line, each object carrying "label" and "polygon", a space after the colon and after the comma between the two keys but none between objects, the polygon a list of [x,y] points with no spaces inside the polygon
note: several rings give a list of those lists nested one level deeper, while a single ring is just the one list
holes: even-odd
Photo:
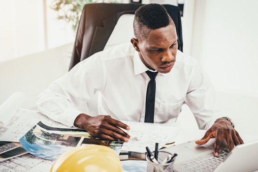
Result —
[{"label": "glossy colour building print with blue area, under the man's hand", "polygon": [[55,160],[66,151],[80,145],[109,146],[119,155],[123,142],[105,141],[82,129],[55,128],[38,122],[20,140],[25,150],[35,156]]}]

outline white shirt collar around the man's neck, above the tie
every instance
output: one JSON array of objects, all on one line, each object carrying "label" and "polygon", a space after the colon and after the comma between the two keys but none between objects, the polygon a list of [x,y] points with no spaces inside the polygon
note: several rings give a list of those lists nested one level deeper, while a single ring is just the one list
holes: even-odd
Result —
[{"label": "white shirt collar around the man's neck, above the tie", "polygon": [[[144,73],[147,70],[151,72],[157,72],[156,70],[155,71],[151,70],[147,66],[145,66],[145,64],[142,62],[141,58],[139,57],[139,53],[136,50],[134,50],[134,54],[133,54],[133,66],[134,66],[134,75]],[[158,75],[159,74],[161,74],[161,76],[166,75],[164,73],[158,73]]]}]

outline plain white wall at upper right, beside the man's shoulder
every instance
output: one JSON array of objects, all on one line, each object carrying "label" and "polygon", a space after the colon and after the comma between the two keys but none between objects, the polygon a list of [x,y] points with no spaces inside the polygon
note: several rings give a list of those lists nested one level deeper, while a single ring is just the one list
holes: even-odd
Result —
[{"label": "plain white wall at upper right, beside the man's shoulder", "polygon": [[217,90],[258,97],[258,0],[195,0],[191,55]]}]

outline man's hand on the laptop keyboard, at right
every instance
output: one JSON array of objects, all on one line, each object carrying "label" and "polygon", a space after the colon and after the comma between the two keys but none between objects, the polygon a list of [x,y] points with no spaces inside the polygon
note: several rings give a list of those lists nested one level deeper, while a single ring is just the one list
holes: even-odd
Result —
[{"label": "man's hand on the laptop keyboard, at right", "polygon": [[219,156],[219,149],[223,139],[226,139],[228,149],[231,151],[234,145],[243,144],[243,140],[239,136],[238,132],[232,127],[231,123],[225,118],[219,118],[215,121],[212,127],[207,130],[204,137],[196,141],[196,144],[205,144],[211,138],[215,138],[214,144],[214,156]]}]

